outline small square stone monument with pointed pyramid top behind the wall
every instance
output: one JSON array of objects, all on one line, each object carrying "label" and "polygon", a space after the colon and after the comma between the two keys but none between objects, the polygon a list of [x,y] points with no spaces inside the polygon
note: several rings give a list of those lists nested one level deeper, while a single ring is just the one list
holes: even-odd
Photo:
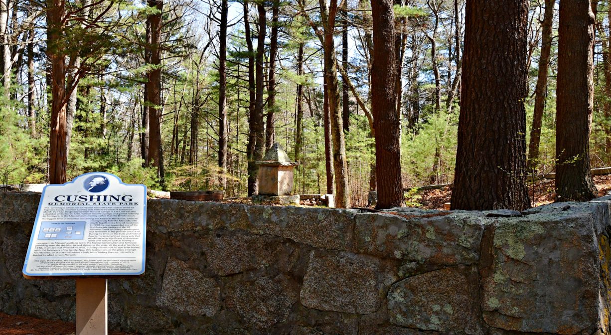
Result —
[{"label": "small square stone monument with pointed pyramid top behind the wall", "polygon": [[287,153],[278,143],[265,153],[259,166],[259,191],[252,197],[258,204],[299,204],[299,195],[293,193],[293,169],[299,163],[288,158]]}]

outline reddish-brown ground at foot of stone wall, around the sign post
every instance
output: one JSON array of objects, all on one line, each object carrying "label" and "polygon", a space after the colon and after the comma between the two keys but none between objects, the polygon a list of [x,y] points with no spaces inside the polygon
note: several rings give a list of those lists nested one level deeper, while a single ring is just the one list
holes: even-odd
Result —
[{"label": "reddish-brown ground at foot of stone wall, around the sign post", "polygon": [[[76,325],[61,320],[8,315],[0,312],[0,335],[74,335]],[[109,331],[109,335],[136,335],[122,331]]]}]

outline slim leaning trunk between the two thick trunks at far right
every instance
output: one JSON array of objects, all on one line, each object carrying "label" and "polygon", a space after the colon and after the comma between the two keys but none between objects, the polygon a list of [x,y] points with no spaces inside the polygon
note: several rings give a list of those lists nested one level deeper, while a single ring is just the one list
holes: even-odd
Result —
[{"label": "slim leaning trunk between the two thick trunks at far right", "polygon": [[541,57],[539,59],[539,72],[535,87],[535,112],[533,124],[530,128],[529,169],[535,169],[539,160],[539,144],[541,142],[541,125],[543,123],[543,112],[545,109],[545,98],[547,93],[547,72],[549,70],[549,57],[552,50],[552,21],[554,21],[555,0],[545,1],[545,12],[541,31]]}]

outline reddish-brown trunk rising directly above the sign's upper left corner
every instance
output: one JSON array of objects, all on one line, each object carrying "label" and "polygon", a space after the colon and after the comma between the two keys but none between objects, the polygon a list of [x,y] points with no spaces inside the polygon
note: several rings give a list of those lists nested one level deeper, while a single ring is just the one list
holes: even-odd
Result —
[{"label": "reddish-brown trunk rising directly above the sign's upper left corner", "polygon": [[49,183],[66,182],[66,64],[63,53],[64,0],[47,1],[47,53],[51,61],[51,129],[49,134]]}]

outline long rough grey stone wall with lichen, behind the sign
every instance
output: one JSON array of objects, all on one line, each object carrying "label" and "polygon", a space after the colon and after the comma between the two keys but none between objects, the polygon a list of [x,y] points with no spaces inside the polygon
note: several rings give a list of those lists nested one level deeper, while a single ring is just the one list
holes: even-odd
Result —
[{"label": "long rough grey stone wall with lichen, behind the sign", "polygon": [[[39,197],[0,194],[0,311],[73,321],[73,280],[21,276]],[[146,273],[109,280],[109,323],[142,334],[608,333],[606,200],[522,213],[151,200]]]}]

